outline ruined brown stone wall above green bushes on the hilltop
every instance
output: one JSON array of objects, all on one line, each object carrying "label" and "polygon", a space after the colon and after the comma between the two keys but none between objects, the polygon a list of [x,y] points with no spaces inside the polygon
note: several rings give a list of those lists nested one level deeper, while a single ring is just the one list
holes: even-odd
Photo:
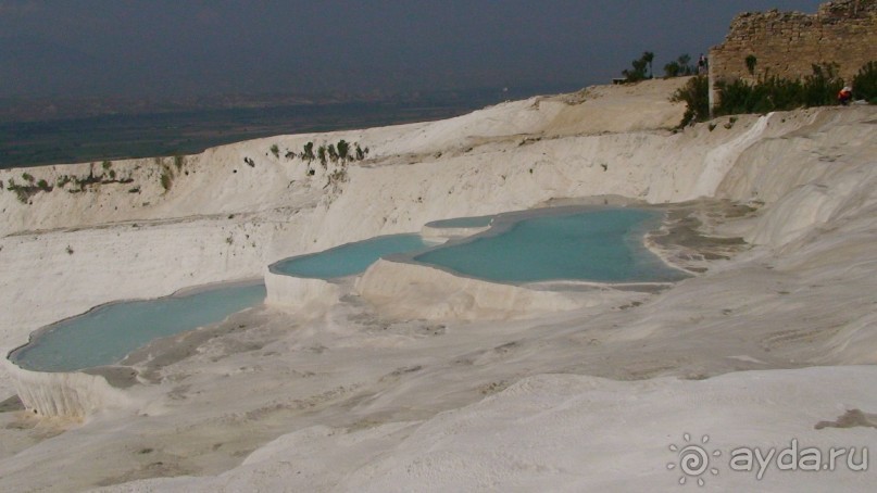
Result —
[{"label": "ruined brown stone wall above green bushes on the hilltop", "polygon": [[[755,55],[753,74],[746,59]],[[877,0],[839,0],[800,12],[746,12],[731,22],[725,42],[710,50],[710,102],[718,80],[797,79],[813,64],[834,62],[848,84],[865,63],[877,61]]]}]

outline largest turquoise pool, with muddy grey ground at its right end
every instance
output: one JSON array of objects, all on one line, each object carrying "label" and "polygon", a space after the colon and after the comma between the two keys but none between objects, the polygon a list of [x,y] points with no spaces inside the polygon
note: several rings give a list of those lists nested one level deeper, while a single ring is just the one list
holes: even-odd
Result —
[{"label": "largest turquoise pool, with muddy grey ground at its right end", "polygon": [[440,246],[415,262],[498,282],[560,279],[600,282],[666,282],[687,277],[642,244],[661,213],[601,208],[542,215],[496,235]]}]

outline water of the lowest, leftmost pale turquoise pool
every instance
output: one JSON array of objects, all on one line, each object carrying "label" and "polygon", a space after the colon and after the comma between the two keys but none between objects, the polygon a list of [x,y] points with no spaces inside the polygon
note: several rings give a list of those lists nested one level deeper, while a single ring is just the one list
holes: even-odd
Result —
[{"label": "water of the lowest, leftmost pale turquoise pool", "polygon": [[122,361],[150,341],[222,321],[265,300],[264,285],[112,303],[38,332],[10,361],[36,371],[74,371]]}]

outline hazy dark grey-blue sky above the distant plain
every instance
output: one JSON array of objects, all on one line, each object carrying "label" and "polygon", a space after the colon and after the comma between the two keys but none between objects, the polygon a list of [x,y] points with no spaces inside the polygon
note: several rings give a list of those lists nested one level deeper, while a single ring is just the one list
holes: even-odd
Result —
[{"label": "hazy dark grey-blue sky above the distant plain", "polygon": [[0,97],[604,83],[818,0],[0,0]]}]

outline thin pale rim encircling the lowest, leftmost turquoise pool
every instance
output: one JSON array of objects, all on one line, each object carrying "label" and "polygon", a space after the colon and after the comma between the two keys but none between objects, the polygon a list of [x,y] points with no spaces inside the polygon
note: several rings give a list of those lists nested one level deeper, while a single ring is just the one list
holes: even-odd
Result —
[{"label": "thin pale rim encircling the lowest, leftmost turquoise pool", "polygon": [[[23,367],[17,362],[12,359],[12,355],[14,353],[23,350],[24,347],[30,345],[30,343],[34,342],[34,340],[36,338],[41,337],[46,332],[57,328],[57,326],[59,326],[61,324],[64,324],[66,321],[70,321],[72,319],[75,319],[75,318],[85,317],[88,314],[90,314],[90,313],[92,313],[92,312],[95,312],[97,309],[103,308],[105,306],[123,304],[123,303],[150,302],[150,301],[165,300],[165,299],[172,299],[172,298],[186,298],[186,296],[200,294],[200,293],[203,293],[203,292],[206,292],[206,291],[212,291],[212,290],[217,290],[217,289],[246,288],[246,287],[255,287],[255,286],[260,286],[260,285],[262,285],[262,286],[265,285],[265,281],[264,281],[263,278],[261,278],[261,277],[247,277],[247,278],[242,278],[242,279],[233,279],[233,280],[228,280],[228,281],[215,281],[215,282],[206,282],[204,285],[187,286],[185,288],[179,288],[178,290],[174,291],[173,293],[166,294],[164,296],[129,298],[129,299],[108,301],[105,303],[95,305],[95,306],[88,308],[87,311],[85,311],[83,313],[79,313],[79,314],[76,314],[76,315],[71,315],[68,317],[64,317],[64,318],[62,318],[60,320],[55,320],[55,321],[53,321],[51,324],[48,324],[48,325],[45,325],[45,326],[41,326],[39,328],[36,328],[36,329],[32,330],[30,333],[27,334],[27,342],[25,342],[23,344],[18,344],[15,347],[13,347],[13,349],[11,349],[9,351],[5,351],[5,354],[3,355],[3,358],[7,362],[9,362],[10,364],[15,365],[16,368],[20,368],[20,369],[25,370],[25,371],[34,371],[34,372],[39,372],[39,374],[74,374],[74,372],[85,371],[85,370],[88,370],[88,369],[91,369],[91,368],[102,368],[102,367],[107,367],[107,366],[118,366],[118,362],[116,362],[116,363],[111,363],[111,364],[107,364],[107,365],[87,366],[87,367],[83,367],[83,368],[78,368],[78,369],[74,369],[74,370],[60,370],[60,371],[38,370],[38,369],[30,369],[30,368]],[[262,304],[264,304],[264,303],[265,302],[263,300]],[[235,312],[235,313],[240,313],[240,312],[243,312],[245,309],[252,309],[252,308],[258,307],[258,306],[260,306],[260,305],[256,304],[256,305],[253,305],[253,306],[249,306],[247,308],[243,308],[243,309]],[[231,316],[231,315],[234,315],[234,314],[229,314],[228,316]],[[228,317],[226,317],[226,318],[228,318]],[[198,330],[198,329],[200,329],[202,327],[206,327],[206,326],[193,327],[191,329],[184,330],[181,332],[177,332],[177,334],[189,332],[189,331],[192,331],[192,330]],[[142,346],[135,347],[134,350],[131,350],[131,352],[137,351],[140,347],[145,347],[146,345],[151,344],[153,341],[155,341],[158,339],[162,339],[164,337],[167,337],[167,336],[163,336],[163,337],[160,337],[160,338],[152,339],[147,344],[145,344]],[[122,362],[126,357],[128,357],[128,354],[130,354],[130,352],[125,354],[125,356],[122,359],[120,359],[120,362]]]}]

